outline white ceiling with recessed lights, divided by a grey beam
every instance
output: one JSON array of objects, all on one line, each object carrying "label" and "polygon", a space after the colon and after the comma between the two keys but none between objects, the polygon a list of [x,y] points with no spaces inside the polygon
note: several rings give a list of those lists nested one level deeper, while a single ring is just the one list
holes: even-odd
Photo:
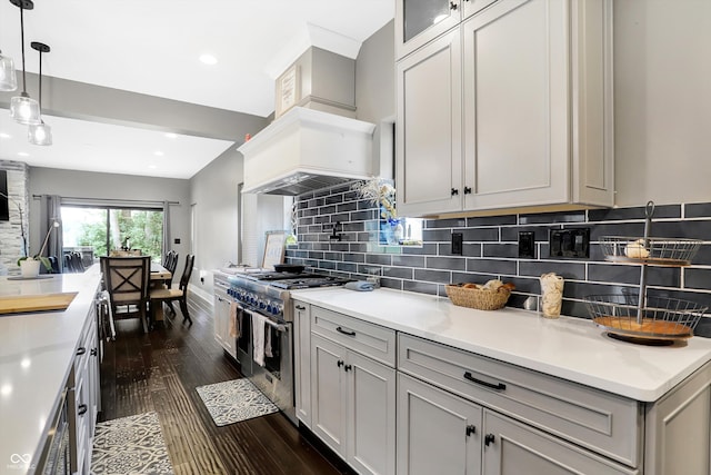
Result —
[{"label": "white ceiling with recessed lights, divided by a grey beam", "polygon": [[[29,43],[41,41],[51,48],[42,75],[267,117],[274,79],[309,46],[356,58],[393,14],[392,0],[34,0],[24,11],[26,67],[39,71]],[[0,0],[0,49],[14,59],[21,88],[19,9],[8,0]],[[202,63],[204,53],[218,62]],[[0,111],[0,159],[190,178],[231,145],[60,117],[44,121],[54,145],[31,146],[26,128]]]}]

